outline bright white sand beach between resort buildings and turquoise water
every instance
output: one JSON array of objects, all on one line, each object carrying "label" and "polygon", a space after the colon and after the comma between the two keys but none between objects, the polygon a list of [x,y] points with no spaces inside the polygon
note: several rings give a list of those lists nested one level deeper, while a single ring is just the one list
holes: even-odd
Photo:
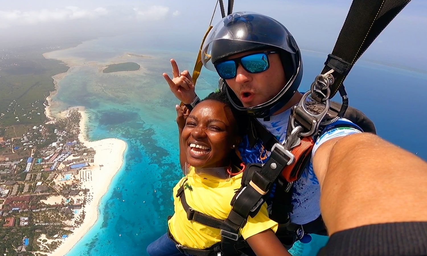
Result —
[{"label": "bright white sand beach between resort buildings and turquoise water", "polygon": [[[91,195],[91,201],[82,207],[82,211],[85,212],[85,220],[81,226],[76,227],[73,230],[73,234],[62,240],[62,243],[49,254],[50,256],[64,256],[67,254],[96,223],[99,216],[99,203],[109,187],[109,185],[105,186],[105,184],[110,184],[113,177],[121,169],[123,165],[123,155],[126,151],[126,142],[120,139],[108,138],[88,141],[85,133],[87,128],[85,125],[86,114],[83,107],[78,108],[79,113],[82,115],[79,123],[79,140],[86,147],[94,148],[96,151],[94,163],[91,164],[89,170],[85,170],[85,172],[91,173],[91,179],[81,181],[82,187],[89,189],[88,195]],[[53,239],[47,240],[48,242],[54,241]]]}]

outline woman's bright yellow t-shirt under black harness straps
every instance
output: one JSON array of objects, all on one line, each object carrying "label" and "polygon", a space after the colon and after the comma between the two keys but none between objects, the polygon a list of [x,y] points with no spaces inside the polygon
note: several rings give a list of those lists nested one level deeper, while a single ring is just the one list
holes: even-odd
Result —
[{"label": "woman's bright yellow t-shirt under black harness straps", "polygon": [[[175,214],[168,221],[172,236],[181,245],[205,249],[221,241],[219,229],[207,227],[196,221],[189,221],[187,213],[182,207],[181,198],[176,197],[186,177],[183,177],[173,188]],[[231,211],[231,199],[234,192],[240,188],[242,173],[231,177],[229,181],[211,181],[197,177],[187,177],[186,183],[190,189],[184,189],[187,204],[198,212],[205,213],[214,218],[225,220]],[[264,203],[258,214],[251,218],[249,216],[246,225],[240,229],[244,239],[271,228],[276,232],[278,224],[268,218],[267,205]]]}]

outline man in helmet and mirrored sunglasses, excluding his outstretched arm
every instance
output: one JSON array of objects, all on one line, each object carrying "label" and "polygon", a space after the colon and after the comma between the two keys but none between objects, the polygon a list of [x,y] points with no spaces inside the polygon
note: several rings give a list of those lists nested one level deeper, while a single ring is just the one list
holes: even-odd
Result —
[{"label": "man in helmet and mirrored sunglasses, excluding his outstretched arm", "polygon": [[[202,47],[202,62],[223,79],[222,90],[227,91],[234,108],[256,118],[280,143],[284,143],[290,108],[302,98],[298,87],[303,72],[301,51],[286,27],[256,13],[228,15],[208,34]],[[163,76],[175,96],[192,108],[198,97],[191,76],[187,70],[179,73],[174,60],[171,63],[173,79],[166,73]],[[318,139],[317,146],[336,137],[361,132],[348,120],[342,121],[340,126],[339,130],[332,129],[328,136]],[[270,156],[270,149],[266,149],[252,133],[240,143],[239,151],[245,163],[265,164]],[[292,209],[275,213],[289,214],[294,224],[315,223],[306,233],[326,235],[320,217],[319,180],[313,165],[316,163],[310,160],[304,166],[301,178],[293,183]]]}]

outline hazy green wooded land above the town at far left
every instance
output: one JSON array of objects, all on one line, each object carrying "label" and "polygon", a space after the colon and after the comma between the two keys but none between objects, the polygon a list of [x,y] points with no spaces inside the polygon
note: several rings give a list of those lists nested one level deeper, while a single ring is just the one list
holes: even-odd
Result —
[{"label": "hazy green wooded land above the town at far left", "polygon": [[[13,125],[16,130],[23,124],[46,121],[43,103],[54,90],[52,76],[66,72],[68,67],[61,61],[44,58],[42,53],[35,49],[1,52],[0,127]],[[14,134],[10,129],[5,133],[5,137]],[[15,134],[22,136],[18,131]]]}]

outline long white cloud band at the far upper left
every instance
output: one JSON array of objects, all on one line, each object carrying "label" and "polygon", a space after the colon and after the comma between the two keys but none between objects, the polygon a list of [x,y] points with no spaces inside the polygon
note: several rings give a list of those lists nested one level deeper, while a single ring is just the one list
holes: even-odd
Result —
[{"label": "long white cloud band at the far upper left", "polygon": [[63,9],[41,9],[38,11],[19,10],[0,11],[0,24],[2,27],[11,25],[38,24],[51,21],[76,20],[94,18],[108,14],[105,8],[98,7],[94,10],[81,9],[76,6],[67,6]]}]

